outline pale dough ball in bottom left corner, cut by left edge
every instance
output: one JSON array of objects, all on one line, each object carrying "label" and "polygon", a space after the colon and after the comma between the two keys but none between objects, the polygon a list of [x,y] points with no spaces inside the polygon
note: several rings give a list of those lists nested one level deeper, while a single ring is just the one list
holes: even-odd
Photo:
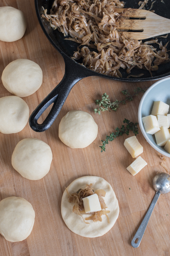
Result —
[{"label": "pale dough ball in bottom left corner, cut by left edge", "polygon": [[22,197],[10,196],[0,201],[0,233],[10,242],[26,239],[34,226],[35,212]]}]

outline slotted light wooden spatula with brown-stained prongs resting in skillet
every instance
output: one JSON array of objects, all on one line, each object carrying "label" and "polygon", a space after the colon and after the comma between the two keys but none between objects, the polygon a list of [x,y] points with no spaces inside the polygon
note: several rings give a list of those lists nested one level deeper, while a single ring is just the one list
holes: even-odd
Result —
[{"label": "slotted light wooden spatula with brown-stained prongs resting in skillet", "polygon": [[115,11],[122,13],[122,17],[145,18],[145,20],[124,19],[116,23],[117,29],[142,31],[124,32],[130,38],[142,40],[170,33],[170,20],[151,11],[132,8],[116,8]]}]

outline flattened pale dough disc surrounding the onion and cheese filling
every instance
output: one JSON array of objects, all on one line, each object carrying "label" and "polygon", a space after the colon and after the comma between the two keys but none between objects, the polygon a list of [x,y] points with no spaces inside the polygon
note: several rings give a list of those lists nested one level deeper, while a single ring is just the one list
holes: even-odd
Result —
[{"label": "flattened pale dough disc surrounding the onion and cheese filling", "polygon": [[[104,202],[108,207],[106,208],[106,210],[110,211],[110,213],[108,213],[110,223],[108,223],[107,217],[105,215],[102,215],[102,222],[93,222],[93,220],[90,220],[88,221],[90,222],[90,224],[84,223],[81,216],[73,213],[74,204],[68,202],[68,195],[66,190],[62,195],[62,218],[66,223],[67,227],[75,234],[85,237],[103,236],[113,227],[119,215],[119,204],[110,184],[101,177],[84,176],[71,182],[71,184],[67,187],[67,190],[71,195],[72,193],[75,193],[86,184],[89,185],[90,183],[93,183],[94,191],[96,189],[103,189],[104,191],[106,191]],[[87,218],[90,215],[86,214],[83,216],[84,218]]]}]

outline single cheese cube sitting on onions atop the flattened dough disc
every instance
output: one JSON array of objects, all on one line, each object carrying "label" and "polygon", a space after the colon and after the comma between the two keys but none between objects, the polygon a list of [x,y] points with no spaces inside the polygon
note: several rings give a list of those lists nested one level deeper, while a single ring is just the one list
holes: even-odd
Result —
[{"label": "single cheese cube sitting on onions atop the flattened dough disc", "polygon": [[101,205],[97,194],[82,198],[85,213],[101,211]]}]

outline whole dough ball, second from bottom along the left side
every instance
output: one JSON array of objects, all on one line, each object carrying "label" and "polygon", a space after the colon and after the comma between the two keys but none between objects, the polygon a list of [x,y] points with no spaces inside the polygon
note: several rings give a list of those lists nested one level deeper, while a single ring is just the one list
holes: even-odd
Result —
[{"label": "whole dough ball, second from bottom along the left side", "polygon": [[50,169],[51,148],[44,141],[27,138],[19,141],[12,154],[12,166],[24,178],[40,180]]}]

